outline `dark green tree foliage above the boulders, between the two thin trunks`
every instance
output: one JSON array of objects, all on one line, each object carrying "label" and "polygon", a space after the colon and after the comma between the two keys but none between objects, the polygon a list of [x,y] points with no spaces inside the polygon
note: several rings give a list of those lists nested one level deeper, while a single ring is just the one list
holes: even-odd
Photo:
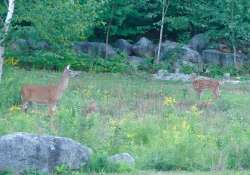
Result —
[{"label": "dark green tree foliage above the boulders, between the two thin trunks", "polygon": [[[98,40],[108,38],[135,38],[149,32],[155,21],[151,0],[108,0],[102,14],[102,26],[97,26]],[[109,30],[108,30],[109,29]],[[108,32],[109,31],[109,32]]]}]

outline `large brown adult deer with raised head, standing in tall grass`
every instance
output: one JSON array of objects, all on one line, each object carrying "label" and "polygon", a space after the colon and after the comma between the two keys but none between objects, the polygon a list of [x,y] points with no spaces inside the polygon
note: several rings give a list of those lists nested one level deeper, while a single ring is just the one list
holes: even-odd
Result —
[{"label": "large brown adult deer with raised head, standing in tall grass", "polygon": [[29,103],[34,102],[48,105],[48,114],[49,116],[53,115],[57,102],[68,87],[69,78],[74,76],[74,71],[70,70],[69,67],[68,65],[64,69],[61,80],[57,85],[24,85],[21,90],[23,111],[27,112]]}]

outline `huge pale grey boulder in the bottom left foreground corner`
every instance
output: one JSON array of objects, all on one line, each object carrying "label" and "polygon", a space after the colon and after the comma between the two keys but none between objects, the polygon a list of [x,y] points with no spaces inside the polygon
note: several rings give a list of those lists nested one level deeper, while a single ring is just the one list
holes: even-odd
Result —
[{"label": "huge pale grey boulder in the bottom left foreground corner", "polygon": [[0,172],[25,170],[51,173],[59,165],[80,169],[91,150],[69,138],[14,133],[0,137]]}]

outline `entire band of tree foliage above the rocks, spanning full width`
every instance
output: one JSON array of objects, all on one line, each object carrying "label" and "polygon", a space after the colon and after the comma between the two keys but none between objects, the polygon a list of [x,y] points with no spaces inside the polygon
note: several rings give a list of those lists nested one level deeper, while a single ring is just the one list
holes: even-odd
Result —
[{"label": "entire band of tree foliage above the rocks, spanning full width", "polygon": [[[207,32],[213,39],[226,39],[230,45],[240,46],[238,43],[250,39],[249,6],[248,0],[171,1],[164,38],[187,42],[191,35]],[[0,9],[4,19],[3,2]],[[12,33],[34,27],[42,40],[62,47],[90,35],[95,40],[104,39],[110,25],[113,39],[148,35],[158,40],[160,20],[160,0],[21,0],[16,2]]]}]

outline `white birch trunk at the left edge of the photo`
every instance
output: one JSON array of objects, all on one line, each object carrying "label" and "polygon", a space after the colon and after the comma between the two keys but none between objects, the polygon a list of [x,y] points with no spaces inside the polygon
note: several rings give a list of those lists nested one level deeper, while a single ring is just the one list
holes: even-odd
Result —
[{"label": "white birch trunk at the left edge of the photo", "polygon": [[7,15],[3,24],[3,29],[1,32],[1,39],[0,39],[0,81],[2,79],[2,72],[3,72],[3,62],[4,62],[4,41],[8,34],[11,19],[14,13],[15,8],[15,0],[9,0],[8,2],[8,11]]}]

